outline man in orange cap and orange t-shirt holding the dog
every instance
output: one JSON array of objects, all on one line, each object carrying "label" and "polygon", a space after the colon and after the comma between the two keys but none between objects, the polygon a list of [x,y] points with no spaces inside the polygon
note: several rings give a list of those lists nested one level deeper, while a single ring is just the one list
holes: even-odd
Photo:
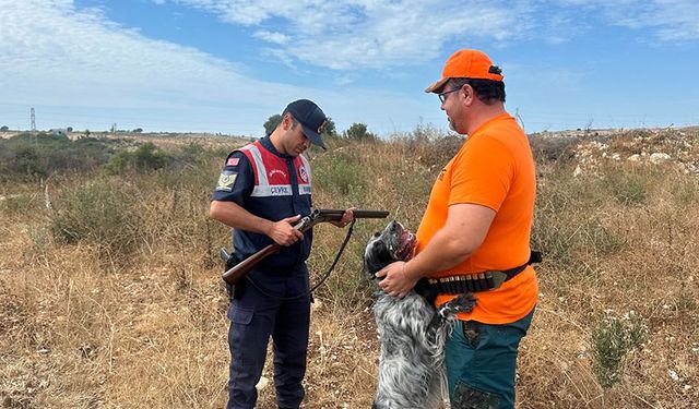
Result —
[{"label": "man in orange cap and orange t-shirt holding the dog", "polygon": [[[445,346],[452,409],[514,407],[519,342],[538,294],[529,265],[534,161],[526,135],[505,110],[502,79],[485,53],[464,49],[425,89],[439,96],[450,128],[467,137],[433,187],[415,256],[377,273],[394,297],[420,277],[437,286],[437,304],[454,297],[454,279],[475,292],[476,306],[459,315]],[[500,279],[486,286],[478,280],[485,272]],[[441,286],[446,277],[450,284]]]}]

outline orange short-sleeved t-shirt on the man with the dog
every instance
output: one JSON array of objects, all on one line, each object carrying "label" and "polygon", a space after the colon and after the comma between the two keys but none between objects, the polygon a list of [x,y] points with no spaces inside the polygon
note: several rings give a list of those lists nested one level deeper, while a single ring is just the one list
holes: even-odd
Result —
[{"label": "orange short-sleeved t-shirt on the man with the dog", "polygon": [[[439,173],[417,229],[417,249],[425,249],[447,222],[449,206],[473,203],[496,213],[483,244],[453,268],[430,277],[448,277],[520,266],[530,256],[536,179],[529,141],[514,118],[499,115],[470,135]],[[461,320],[507,324],[524,317],[536,303],[538,285],[532,266],[496,290],[476,292],[476,305]],[[439,305],[454,296],[440,294]]]}]

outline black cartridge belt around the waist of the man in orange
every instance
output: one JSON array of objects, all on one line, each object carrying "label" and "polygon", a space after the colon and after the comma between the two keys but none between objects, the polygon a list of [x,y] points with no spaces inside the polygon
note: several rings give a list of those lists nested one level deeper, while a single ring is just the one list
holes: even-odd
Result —
[{"label": "black cartridge belt around the waist of the man in orange", "polygon": [[522,273],[528,265],[542,262],[542,253],[532,251],[529,261],[521,266],[506,270],[490,270],[484,273],[466,274],[461,276],[450,276],[442,278],[430,278],[428,280],[433,290],[445,294],[459,294],[463,292],[488,291],[499,288],[502,282]]}]

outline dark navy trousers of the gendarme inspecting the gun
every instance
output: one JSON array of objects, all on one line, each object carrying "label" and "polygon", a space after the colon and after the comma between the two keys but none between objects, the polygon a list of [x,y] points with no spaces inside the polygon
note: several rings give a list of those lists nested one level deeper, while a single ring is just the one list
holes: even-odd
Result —
[{"label": "dark navy trousers of the gendarme inspecting the gun", "polygon": [[[298,408],[304,399],[301,381],[306,373],[310,297],[282,300],[308,291],[304,266],[293,274],[257,274],[228,309],[230,328],[230,377],[228,409],[251,409],[257,402],[256,384],[264,368],[266,346],[274,345],[274,385],[281,408]],[[265,294],[266,293],[266,294]],[[270,297],[273,296],[273,297]]]}]

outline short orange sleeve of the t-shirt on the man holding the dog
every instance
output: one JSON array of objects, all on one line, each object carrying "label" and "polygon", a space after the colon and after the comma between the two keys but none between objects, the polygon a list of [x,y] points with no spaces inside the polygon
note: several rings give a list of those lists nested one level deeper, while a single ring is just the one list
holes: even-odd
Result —
[{"label": "short orange sleeve of the t-shirt on the man holding the dog", "polygon": [[487,136],[475,139],[453,164],[449,205],[474,203],[497,212],[513,177],[514,159],[507,146]]}]

